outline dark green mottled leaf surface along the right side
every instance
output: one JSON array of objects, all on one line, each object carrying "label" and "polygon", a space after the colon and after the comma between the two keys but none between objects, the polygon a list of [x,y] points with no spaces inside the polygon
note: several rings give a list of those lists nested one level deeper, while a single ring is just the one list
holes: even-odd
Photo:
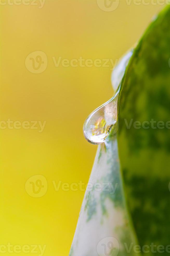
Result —
[{"label": "dark green mottled leaf surface along the right side", "polygon": [[[133,53],[121,83],[118,132],[127,203],[139,243],[165,248],[170,244],[169,24],[170,9],[166,8]],[[126,122],[132,119],[127,129]],[[135,129],[135,121],[143,127],[138,123]],[[165,123],[163,129],[159,121]],[[166,250],[164,255],[168,255]]]}]

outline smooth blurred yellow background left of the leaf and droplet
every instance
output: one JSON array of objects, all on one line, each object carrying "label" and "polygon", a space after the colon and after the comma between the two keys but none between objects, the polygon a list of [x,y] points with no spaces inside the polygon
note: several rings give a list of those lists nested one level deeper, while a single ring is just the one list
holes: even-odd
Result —
[{"label": "smooth blurred yellow background left of the leaf and droplet", "polygon": [[1,0],[4,255],[69,254],[97,149],[84,120],[112,97],[114,65],[166,2],[107,1]]}]

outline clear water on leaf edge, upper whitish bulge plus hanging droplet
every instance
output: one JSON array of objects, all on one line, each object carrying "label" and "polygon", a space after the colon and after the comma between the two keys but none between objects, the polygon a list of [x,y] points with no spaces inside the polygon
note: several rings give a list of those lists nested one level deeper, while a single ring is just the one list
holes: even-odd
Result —
[{"label": "clear water on leaf edge, upper whitish bulge plus hanging droplet", "polygon": [[[112,73],[112,85],[116,94],[99,108],[95,109],[86,119],[83,132],[88,142],[92,144],[103,143],[109,135],[110,130],[117,131],[118,128],[118,98],[120,84],[125,74],[126,67],[132,56],[133,49],[122,57]],[[118,88],[119,87],[119,88]]]}]

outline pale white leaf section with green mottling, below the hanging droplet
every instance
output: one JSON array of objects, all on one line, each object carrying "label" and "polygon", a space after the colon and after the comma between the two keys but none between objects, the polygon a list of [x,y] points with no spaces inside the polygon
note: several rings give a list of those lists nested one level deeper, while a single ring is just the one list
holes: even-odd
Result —
[{"label": "pale white leaf section with green mottling, below the hanging droplet", "polygon": [[129,255],[124,243],[136,238],[123,194],[116,137],[108,138],[97,149],[70,256]]}]

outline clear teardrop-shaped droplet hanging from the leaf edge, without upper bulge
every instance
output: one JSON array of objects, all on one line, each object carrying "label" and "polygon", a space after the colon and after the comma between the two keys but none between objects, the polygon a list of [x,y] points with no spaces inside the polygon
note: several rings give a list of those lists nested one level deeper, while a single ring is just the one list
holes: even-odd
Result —
[{"label": "clear teardrop-shaped droplet hanging from the leaf edge, without upper bulge", "polygon": [[88,142],[101,144],[108,137],[110,130],[116,128],[119,90],[120,88],[109,101],[95,109],[86,119],[83,132]]}]

